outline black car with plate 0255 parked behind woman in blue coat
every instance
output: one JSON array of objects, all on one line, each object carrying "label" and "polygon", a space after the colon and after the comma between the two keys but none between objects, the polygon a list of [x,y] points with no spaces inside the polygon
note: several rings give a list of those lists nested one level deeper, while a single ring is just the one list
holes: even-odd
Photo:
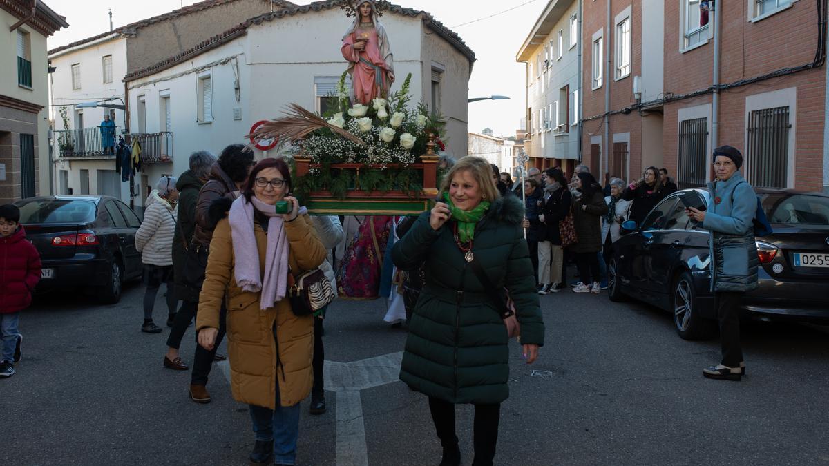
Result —
[{"label": "black car with plate 0255 parked behind woman in blue coat", "polygon": [[[641,226],[615,246],[608,265],[608,296],[635,297],[671,311],[685,339],[715,334],[710,291],[709,231],[685,214],[679,197],[693,192],[711,206],[706,189],[686,189],[657,204]],[[757,238],[759,289],[746,294],[744,313],[829,323],[829,196],[756,189],[773,234]]]}]

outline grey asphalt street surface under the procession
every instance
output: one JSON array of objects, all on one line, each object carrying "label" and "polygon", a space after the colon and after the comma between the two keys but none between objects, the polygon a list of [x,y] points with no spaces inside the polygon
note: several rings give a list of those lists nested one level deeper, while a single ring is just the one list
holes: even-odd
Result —
[{"label": "grey asphalt street surface under the procession", "polygon": [[[0,464],[247,464],[247,407],[231,398],[219,366],[208,385],[213,402],[189,400],[189,372],[162,367],[167,328],[139,331],[142,296],[130,284],[116,305],[66,295],[22,314],[23,360],[0,380]],[[718,361],[719,343],[682,341],[667,313],[605,294],[541,299],[546,345],[531,366],[512,348],[497,464],[829,464],[823,328],[749,325],[748,376],[710,381],[701,369]],[[335,303],[326,359],[400,352],[405,328],[389,328],[384,313],[379,301]],[[159,295],[156,321],[165,318]],[[190,328],[188,363],[194,347]],[[298,464],[439,463],[424,396],[400,381],[351,393],[362,422],[339,419],[339,434],[343,422],[362,430],[364,451],[355,452],[337,446],[338,411],[353,412],[345,403],[337,410],[341,395],[327,393],[321,416],[303,402]],[[463,464],[472,461],[472,417],[471,406],[458,406]],[[349,448],[361,444],[351,440]]]}]

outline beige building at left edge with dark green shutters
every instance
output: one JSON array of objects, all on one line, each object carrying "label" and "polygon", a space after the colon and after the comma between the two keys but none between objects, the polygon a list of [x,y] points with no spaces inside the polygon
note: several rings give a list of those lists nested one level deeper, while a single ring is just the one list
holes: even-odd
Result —
[{"label": "beige building at left edge with dark green shutters", "polygon": [[66,18],[43,2],[0,0],[0,204],[51,194],[46,37]]}]

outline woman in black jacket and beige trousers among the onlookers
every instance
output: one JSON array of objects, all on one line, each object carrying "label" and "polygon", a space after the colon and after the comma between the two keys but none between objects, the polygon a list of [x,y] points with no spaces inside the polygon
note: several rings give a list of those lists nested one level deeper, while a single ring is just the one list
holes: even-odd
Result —
[{"label": "woman in black jacket and beige trousers among the onlookers", "polygon": [[564,289],[562,264],[565,260],[561,247],[559,222],[570,213],[573,195],[567,189],[564,173],[557,168],[548,168],[541,174],[544,181],[544,197],[538,220],[538,282],[542,285],[539,294],[558,293]]}]

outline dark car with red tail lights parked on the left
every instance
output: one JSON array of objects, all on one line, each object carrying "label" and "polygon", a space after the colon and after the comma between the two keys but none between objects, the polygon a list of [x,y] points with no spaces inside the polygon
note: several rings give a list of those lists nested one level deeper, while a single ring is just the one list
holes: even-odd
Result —
[{"label": "dark car with red tail lights parked on the left", "polygon": [[108,196],[29,197],[14,203],[20,223],[41,254],[36,292],[84,289],[103,303],[121,299],[125,280],[141,276],[135,232],[141,221]]}]

